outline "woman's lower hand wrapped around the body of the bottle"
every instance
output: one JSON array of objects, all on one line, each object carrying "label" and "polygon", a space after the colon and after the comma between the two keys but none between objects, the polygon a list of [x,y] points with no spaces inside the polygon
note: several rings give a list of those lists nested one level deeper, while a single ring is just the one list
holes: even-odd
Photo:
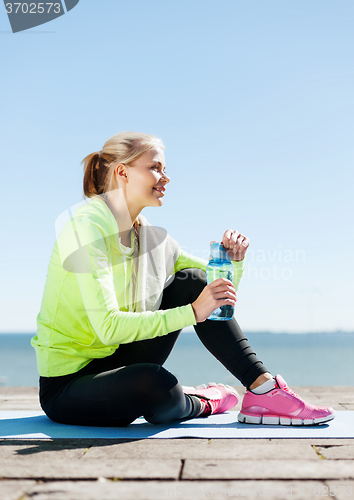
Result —
[{"label": "woman's lower hand wrapped around the body of the bottle", "polygon": [[205,321],[220,306],[236,304],[235,288],[230,280],[219,278],[203,288],[203,291],[192,303],[197,323]]}]

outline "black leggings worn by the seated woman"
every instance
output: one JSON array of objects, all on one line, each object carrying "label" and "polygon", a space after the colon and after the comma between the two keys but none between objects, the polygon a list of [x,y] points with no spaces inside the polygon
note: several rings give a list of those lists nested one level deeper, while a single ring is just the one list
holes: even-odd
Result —
[{"label": "black leggings worn by the seated woman", "polygon": [[[179,271],[165,288],[160,309],[194,302],[205,285],[204,271]],[[194,329],[245,387],[268,372],[235,318],[206,320]],[[140,416],[153,424],[193,418],[200,409],[198,399],[186,396],[176,377],[162,367],[180,333],[122,344],[111,356],[94,359],[77,373],[40,377],[43,410],[52,420],[72,425],[121,427]]]}]

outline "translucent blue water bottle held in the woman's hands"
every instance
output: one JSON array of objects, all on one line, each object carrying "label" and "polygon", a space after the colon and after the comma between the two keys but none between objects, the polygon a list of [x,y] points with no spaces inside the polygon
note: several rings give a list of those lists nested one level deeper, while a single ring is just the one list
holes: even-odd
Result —
[{"label": "translucent blue water bottle held in the woman's hands", "polygon": [[[208,285],[219,278],[226,278],[233,283],[234,266],[231,263],[231,257],[220,243],[210,244],[210,260],[206,268],[206,275]],[[208,319],[226,321],[232,319],[233,315],[234,306],[226,305],[215,309]]]}]

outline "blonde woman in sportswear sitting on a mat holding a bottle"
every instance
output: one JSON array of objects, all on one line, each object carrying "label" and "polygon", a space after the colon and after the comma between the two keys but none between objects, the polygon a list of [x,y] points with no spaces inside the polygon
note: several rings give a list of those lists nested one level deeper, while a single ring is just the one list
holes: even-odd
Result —
[{"label": "blonde woman in sportswear sitting on a mat holding a bottle", "polygon": [[234,281],[206,284],[207,262],[183,252],[141,210],[163,204],[170,179],[156,137],[125,132],[84,160],[84,196],[54,245],[37,335],[40,402],[64,424],[158,424],[222,413],[238,402],[222,384],[183,388],[162,365],[182,328],[248,389],[239,421],[316,424],[334,418],[268,372],[236,320],[207,318],[236,303],[248,239],[225,231]]}]

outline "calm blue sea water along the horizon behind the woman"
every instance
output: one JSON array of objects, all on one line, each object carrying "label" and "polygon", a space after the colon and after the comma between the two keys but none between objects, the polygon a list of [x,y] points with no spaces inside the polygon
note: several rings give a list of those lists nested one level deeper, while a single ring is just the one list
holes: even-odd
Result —
[{"label": "calm blue sea water along the horizon behind the woman", "polygon": [[[0,334],[0,385],[37,386],[34,334]],[[354,333],[245,333],[258,358],[289,385],[354,385]],[[180,335],[164,367],[184,385],[240,385],[203,346],[193,328]]]}]

